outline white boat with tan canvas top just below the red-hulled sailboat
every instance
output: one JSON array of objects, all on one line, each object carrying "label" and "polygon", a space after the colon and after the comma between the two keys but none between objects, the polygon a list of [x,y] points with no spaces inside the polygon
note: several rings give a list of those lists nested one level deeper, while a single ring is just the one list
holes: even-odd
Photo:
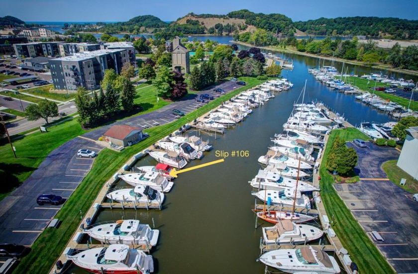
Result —
[{"label": "white boat with tan canvas top just below the red-hulled sailboat", "polygon": [[323,231],[291,220],[280,220],[275,226],[263,227],[263,240],[266,245],[304,244],[322,237]]}]

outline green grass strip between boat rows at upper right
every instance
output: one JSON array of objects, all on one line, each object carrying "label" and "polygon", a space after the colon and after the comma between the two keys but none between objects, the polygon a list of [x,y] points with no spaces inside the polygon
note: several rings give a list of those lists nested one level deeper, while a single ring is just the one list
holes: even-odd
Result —
[{"label": "green grass strip between boat rows at upper right", "polygon": [[[342,80],[344,81],[345,78],[343,77]],[[381,83],[381,82],[375,82],[375,81],[370,81],[369,84],[367,84],[368,80],[367,79],[362,79],[359,77],[347,77],[347,83],[352,84],[353,86],[358,87],[360,90],[362,91],[369,91],[370,93],[373,93],[373,88],[376,84],[376,88],[378,87],[385,87],[387,89],[389,89],[389,85],[390,84],[385,84],[385,83]],[[369,88],[372,89],[369,89]],[[393,102],[399,103],[402,106],[408,107],[409,105],[409,99],[407,98],[402,98],[402,97],[398,97],[389,93],[385,93],[383,91],[375,91],[374,94],[378,95],[379,97],[381,97],[384,100],[391,100]],[[411,101],[411,106],[410,109],[412,110],[418,110],[418,102],[416,101]]]}]

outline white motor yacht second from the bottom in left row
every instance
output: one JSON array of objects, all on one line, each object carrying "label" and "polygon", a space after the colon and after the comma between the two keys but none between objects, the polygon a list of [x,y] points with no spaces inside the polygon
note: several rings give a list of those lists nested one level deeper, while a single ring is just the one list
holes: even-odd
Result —
[{"label": "white motor yacht second from the bottom in left row", "polygon": [[104,244],[155,246],[160,231],[138,220],[119,220],[91,225],[83,233]]}]

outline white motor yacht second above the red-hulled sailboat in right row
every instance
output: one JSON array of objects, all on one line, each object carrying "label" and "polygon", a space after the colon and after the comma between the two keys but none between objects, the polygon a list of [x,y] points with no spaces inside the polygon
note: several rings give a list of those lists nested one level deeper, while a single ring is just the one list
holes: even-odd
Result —
[{"label": "white motor yacht second above the red-hulled sailboat in right row", "polygon": [[[252,187],[259,189],[281,190],[296,187],[296,179],[284,178],[278,173],[259,170],[257,175],[250,182]],[[318,191],[320,189],[314,187],[307,182],[299,181],[298,190],[301,192]]]}]

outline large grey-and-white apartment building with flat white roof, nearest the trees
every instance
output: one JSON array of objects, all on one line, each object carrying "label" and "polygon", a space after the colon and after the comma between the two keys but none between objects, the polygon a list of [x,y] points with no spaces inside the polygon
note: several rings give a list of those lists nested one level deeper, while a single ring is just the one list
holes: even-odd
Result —
[{"label": "large grey-and-white apartment building with flat white roof, nearest the trees", "polygon": [[54,88],[57,90],[76,91],[79,87],[93,90],[100,85],[105,70],[113,69],[120,74],[127,62],[127,50],[104,49],[51,59],[49,69]]}]

